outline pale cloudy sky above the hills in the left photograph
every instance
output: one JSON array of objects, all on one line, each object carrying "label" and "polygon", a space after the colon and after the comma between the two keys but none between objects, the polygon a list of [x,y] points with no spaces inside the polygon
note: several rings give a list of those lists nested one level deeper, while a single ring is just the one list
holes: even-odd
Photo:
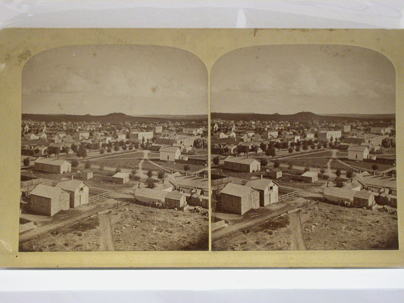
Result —
[{"label": "pale cloudy sky above the hills in the left photograph", "polygon": [[207,114],[208,75],[195,55],[167,46],[79,45],[24,65],[23,114]]}]

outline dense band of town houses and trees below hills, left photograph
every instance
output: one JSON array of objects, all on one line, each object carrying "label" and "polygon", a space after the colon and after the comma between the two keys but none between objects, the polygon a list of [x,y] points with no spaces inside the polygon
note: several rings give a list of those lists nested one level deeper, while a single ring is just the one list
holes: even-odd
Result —
[{"label": "dense band of town houses and trees below hills, left photograph", "polygon": [[[203,124],[200,122],[198,124]],[[189,127],[196,122],[161,122],[140,124],[134,122],[34,122],[21,125],[21,154],[44,156],[53,147],[52,154],[72,154],[81,144],[91,149],[105,149],[112,143],[147,145],[159,150],[161,145],[176,144],[181,151],[193,147],[207,147],[207,130],[201,126]]]}]

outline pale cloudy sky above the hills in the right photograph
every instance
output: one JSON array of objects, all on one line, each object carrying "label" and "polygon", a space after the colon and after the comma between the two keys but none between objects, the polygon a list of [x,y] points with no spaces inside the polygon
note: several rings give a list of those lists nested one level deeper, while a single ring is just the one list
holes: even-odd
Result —
[{"label": "pale cloudy sky above the hills in the right photograph", "polygon": [[213,65],[211,112],[393,114],[391,61],[368,48],[266,45],[231,51]]}]

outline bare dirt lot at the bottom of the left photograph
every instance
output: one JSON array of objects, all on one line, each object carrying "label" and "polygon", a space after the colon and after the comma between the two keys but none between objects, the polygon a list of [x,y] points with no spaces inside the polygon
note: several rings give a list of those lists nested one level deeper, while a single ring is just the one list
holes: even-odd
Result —
[{"label": "bare dirt lot at the bottom of the left photograph", "polygon": [[[158,211],[156,221],[153,210]],[[50,230],[21,243],[19,248],[20,251],[207,249],[206,216],[138,204],[126,204],[71,226]]]}]

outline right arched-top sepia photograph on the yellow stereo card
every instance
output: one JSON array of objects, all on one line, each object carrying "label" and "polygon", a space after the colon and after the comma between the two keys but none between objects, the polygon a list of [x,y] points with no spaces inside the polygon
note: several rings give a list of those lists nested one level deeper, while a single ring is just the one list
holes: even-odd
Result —
[{"label": "right arched-top sepia photograph on the yellow stereo card", "polygon": [[251,46],[210,74],[212,250],[398,249],[396,74],[347,45]]}]

